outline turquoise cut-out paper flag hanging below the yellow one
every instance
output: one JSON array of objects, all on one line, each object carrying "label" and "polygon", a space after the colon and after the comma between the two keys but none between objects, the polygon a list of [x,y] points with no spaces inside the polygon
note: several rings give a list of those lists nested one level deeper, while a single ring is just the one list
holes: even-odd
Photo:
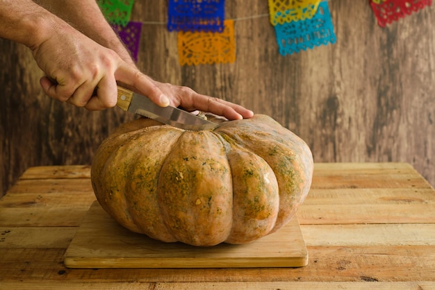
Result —
[{"label": "turquoise cut-out paper flag hanging below the yellow one", "polygon": [[282,56],[336,42],[334,25],[326,1],[320,2],[318,11],[311,19],[277,24],[275,33],[277,34],[279,53]]}]

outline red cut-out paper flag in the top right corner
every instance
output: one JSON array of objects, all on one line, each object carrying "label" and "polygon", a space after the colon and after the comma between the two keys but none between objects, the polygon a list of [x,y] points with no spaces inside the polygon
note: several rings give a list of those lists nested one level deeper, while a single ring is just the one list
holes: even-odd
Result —
[{"label": "red cut-out paper flag in the top right corner", "polygon": [[371,0],[370,2],[377,23],[381,27],[430,5],[432,5],[432,0],[383,0],[380,3]]}]

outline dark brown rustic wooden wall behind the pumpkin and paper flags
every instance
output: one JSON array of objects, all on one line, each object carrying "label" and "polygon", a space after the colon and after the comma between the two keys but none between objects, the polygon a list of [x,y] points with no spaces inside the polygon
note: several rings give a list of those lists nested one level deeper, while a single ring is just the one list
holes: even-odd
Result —
[{"label": "dark brown rustic wooden wall behind the pumpkin and paper flags", "polygon": [[[268,14],[268,1],[227,1],[226,18]],[[268,17],[235,22],[236,62],[180,67],[177,33],[144,24],[138,66],[268,114],[297,133],[315,162],[409,162],[435,185],[435,7],[381,28],[367,0],[329,1],[337,42],[278,53]],[[167,1],[136,1],[131,20],[165,22]],[[28,167],[90,164],[133,117],[88,112],[44,96],[24,46],[0,39],[0,196]]]}]

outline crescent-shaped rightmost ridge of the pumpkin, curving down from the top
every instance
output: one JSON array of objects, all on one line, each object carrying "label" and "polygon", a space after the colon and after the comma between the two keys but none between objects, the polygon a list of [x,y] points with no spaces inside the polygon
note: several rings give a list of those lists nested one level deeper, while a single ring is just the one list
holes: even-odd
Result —
[{"label": "crescent-shaped rightmost ridge of the pumpkin, curving down from the top", "polygon": [[[261,122],[256,119],[261,119]],[[233,142],[252,150],[256,155],[263,157],[272,167],[279,179],[280,211],[277,224],[270,233],[282,228],[294,216],[297,208],[306,198],[309,185],[311,185],[313,161],[311,151],[306,143],[295,133],[282,127],[277,121],[261,114],[257,114],[251,119],[238,120],[237,126],[224,123],[215,132],[224,133]],[[265,144],[265,146],[258,146],[259,144]],[[274,145],[274,147],[268,145]],[[268,149],[268,151],[266,152],[264,149]],[[284,151],[287,151],[289,155],[285,155]],[[276,155],[281,155],[281,157]],[[304,170],[304,168],[299,168],[299,161],[305,159],[310,159],[311,166]],[[286,178],[288,175],[290,176]],[[286,180],[289,180],[290,183]],[[299,188],[301,185],[305,186]],[[293,200],[293,203],[290,203],[288,198]],[[292,204],[293,207],[289,210],[283,207],[286,204]]]}]

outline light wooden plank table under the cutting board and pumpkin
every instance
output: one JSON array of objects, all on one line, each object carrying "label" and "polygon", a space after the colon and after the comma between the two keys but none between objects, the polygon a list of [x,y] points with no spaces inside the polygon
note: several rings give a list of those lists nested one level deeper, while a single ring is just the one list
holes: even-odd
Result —
[{"label": "light wooden plank table under the cutting board and pumpkin", "polygon": [[435,190],[409,164],[315,164],[302,268],[70,269],[90,167],[33,167],[0,201],[0,289],[435,289]]}]

